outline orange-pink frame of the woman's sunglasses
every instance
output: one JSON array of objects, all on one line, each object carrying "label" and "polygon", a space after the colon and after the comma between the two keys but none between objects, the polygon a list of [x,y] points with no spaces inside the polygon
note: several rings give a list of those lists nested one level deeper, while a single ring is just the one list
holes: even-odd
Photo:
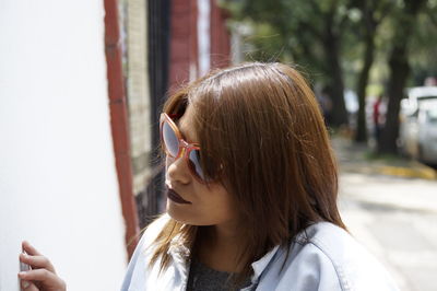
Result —
[{"label": "orange-pink frame of the woman's sunglasses", "polygon": [[[170,116],[172,116],[172,117],[177,117],[177,115],[170,115]],[[196,172],[196,168],[191,165],[190,158],[189,158],[191,151],[193,151],[193,150],[200,151],[200,144],[199,144],[199,143],[190,143],[190,142],[187,142],[187,141],[184,139],[182,133],[180,133],[179,128],[177,127],[177,125],[175,124],[175,121],[172,119],[170,116],[167,115],[166,113],[162,113],[162,114],[161,114],[161,117],[160,117],[160,136],[161,136],[161,144],[162,144],[162,147],[163,147],[163,149],[164,149],[164,152],[165,152],[167,155],[169,155],[169,156],[172,156],[173,159],[175,159],[175,160],[177,160],[177,159],[179,159],[179,158],[181,158],[181,156],[184,155],[184,159],[185,159],[185,161],[186,161],[186,163],[187,163],[187,165],[188,165],[188,168],[189,168],[190,172],[191,172],[191,175],[192,175],[198,182],[200,182],[201,184],[205,184],[205,181]],[[164,130],[163,130],[164,123],[167,123],[167,124],[170,126],[170,128],[172,128],[173,131],[175,132],[176,138],[177,138],[177,140],[178,140],[178,152],[177,152],[176,156],[174,156],[174,155],[168,151],[168,149],[167,149],[167,147],[166,147],[166,144],[165,144],[165,142],[164,142],[164,137],[163,137],[163,135],[164,135]]]}]

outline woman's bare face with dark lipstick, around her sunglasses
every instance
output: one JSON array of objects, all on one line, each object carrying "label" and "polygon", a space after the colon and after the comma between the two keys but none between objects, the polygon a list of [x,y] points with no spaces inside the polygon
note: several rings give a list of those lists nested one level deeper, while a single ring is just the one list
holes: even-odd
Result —
[{"label": "woman's bare face with dark lipstick, around her sunglasses", "polygon": [[[192,106],[189,105],[177,123],[184,139],[190,143],[198,141],[193,127],[193,114]],[[170,189],[167,197],[167,212],[176,221],[191,225],[236,222],[237,211],[233,196],[222,184],[213,183],[206,186],[200,183],[191,174],[184,156],[174,159],[167,155],[165,183]]]}]

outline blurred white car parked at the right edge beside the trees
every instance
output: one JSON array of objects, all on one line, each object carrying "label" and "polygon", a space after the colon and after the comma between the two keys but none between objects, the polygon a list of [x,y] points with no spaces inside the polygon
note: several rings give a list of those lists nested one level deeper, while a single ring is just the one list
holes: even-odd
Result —
[{"label": "blurred white car parked at the right edge beside the trees", "polygon": [[410,89],[401,102],[400,120],[401,151],[437,165],[437,86]]}]

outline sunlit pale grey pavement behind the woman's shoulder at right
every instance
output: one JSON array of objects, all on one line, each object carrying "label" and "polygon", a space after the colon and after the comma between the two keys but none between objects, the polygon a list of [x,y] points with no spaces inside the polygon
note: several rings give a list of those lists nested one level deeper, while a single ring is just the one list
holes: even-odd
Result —
[{"label": "sunlit pale grey pavement behind the woman's shoulder at right", "polygon": [[339,203],[351,234],[401,290],[437,290],[437,181],[341,168]]}]

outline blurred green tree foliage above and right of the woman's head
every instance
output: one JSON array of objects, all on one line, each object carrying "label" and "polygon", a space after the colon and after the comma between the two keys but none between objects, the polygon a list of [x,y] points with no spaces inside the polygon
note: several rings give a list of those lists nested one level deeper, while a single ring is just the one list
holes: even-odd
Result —
[{"label": "blurred green tree foliage above and right of the woman's head", "polygon": [[[362,66],[364,7],[380,20],[376,34],[377,70],[385,70],[387,54],[393,43],[403,42],[395,34],[399,23],[409,23],[403,13],[404,0],[239,0],[221,1],[234,20],[249,24],[252,46],[249,60],[293,61],[311,68],[319,81],[327,82],[330,67],[323,42],[329,34],[339,37],[341,63],[346,84],[353,86]],[[406,20],[405,20],[406,19]],[[414,20],[412,20],[414,21]],[[428,0],[414,30],[410,51],[415,74],[434,73],[437,68],[437,0]],[[381,74],[378,74],[381,75]],[[387,75],[386,75],[387,77]],[[383,83],[383,80],[378,80]]]}]

